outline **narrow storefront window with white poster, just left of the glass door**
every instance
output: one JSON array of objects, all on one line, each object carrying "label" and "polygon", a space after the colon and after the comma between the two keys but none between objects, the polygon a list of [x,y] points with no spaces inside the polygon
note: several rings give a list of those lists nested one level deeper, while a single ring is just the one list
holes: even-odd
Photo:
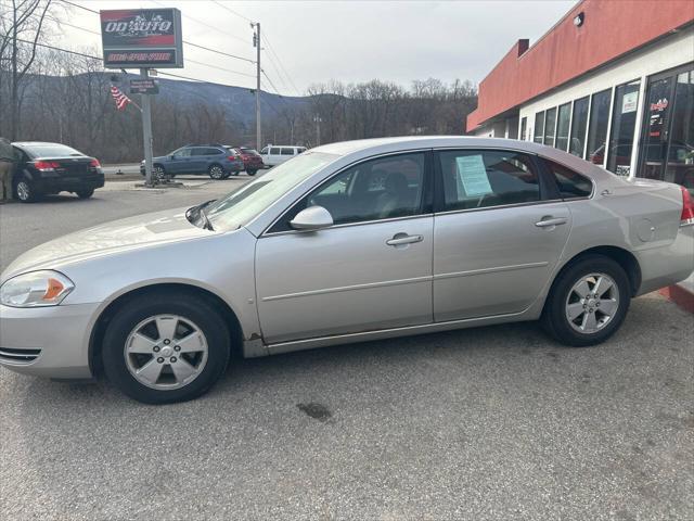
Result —
[{"label": "narrow storefront window with white poster, just left of the glass door", "polygon": [[612,111],[607,169],[619,176],[631,173],[631,151],[637,128],[637,107],[641,81],[620,85],[615,91]]}]

